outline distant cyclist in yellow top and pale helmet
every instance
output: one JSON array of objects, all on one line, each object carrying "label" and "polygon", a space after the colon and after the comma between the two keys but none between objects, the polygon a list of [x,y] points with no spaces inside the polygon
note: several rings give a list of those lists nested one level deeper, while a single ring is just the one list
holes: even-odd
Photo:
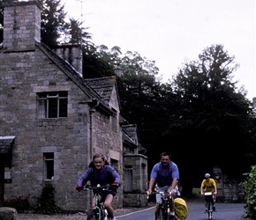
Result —
[{"label": "distant cyclist in yellow top and pale helmet", "polygon": [[[213,199],[214,199],[214,207],[213,210],[215,211],[215,196],[217,194],[217,186],[214,179],[210,178],[210,174],[205,174],[205,179],[201,183],[201,195],[204,195],[204,193],[214,193]],[[205,201],[206,211],[207,211],[207,201]]]}]

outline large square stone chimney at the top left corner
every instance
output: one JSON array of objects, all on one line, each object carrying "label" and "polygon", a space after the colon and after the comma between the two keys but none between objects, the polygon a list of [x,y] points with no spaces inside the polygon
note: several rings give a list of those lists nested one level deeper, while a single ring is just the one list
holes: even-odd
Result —
[{"label": "large square stone chimney at the top left corner", "polygon": [[3,3],[5,52],[34,50],[41,40],[41,10],[33,1]]}]

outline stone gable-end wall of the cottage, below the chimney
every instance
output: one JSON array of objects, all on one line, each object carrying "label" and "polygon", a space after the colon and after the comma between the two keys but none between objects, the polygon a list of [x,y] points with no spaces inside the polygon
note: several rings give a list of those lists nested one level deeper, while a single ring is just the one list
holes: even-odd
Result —
[{"label": "stone gable-end wall of the cottage, below the chimney", "polygon": [[[1,136],[16,136],[11,183],[5,199],[41,194],[45,184],[43,153],[54,152],[56,202],[66,209],[84,209],[85,195],[74,187],[89,160],[87,95],[56,68],[40,50],[0,53]],[[36,92],[68,91],[68,117],[37,119]]]}]

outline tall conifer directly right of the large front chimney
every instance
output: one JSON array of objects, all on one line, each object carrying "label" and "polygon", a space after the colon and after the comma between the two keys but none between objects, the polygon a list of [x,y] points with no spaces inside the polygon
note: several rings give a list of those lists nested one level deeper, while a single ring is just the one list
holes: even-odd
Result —
[{"label": "tall conifer directly right of the large front chimney", "polygon": [[61,0],[40,0],[41,11],[41,42],[49,48],[57,44],[57,40],[64,33],[64,4]]}]

